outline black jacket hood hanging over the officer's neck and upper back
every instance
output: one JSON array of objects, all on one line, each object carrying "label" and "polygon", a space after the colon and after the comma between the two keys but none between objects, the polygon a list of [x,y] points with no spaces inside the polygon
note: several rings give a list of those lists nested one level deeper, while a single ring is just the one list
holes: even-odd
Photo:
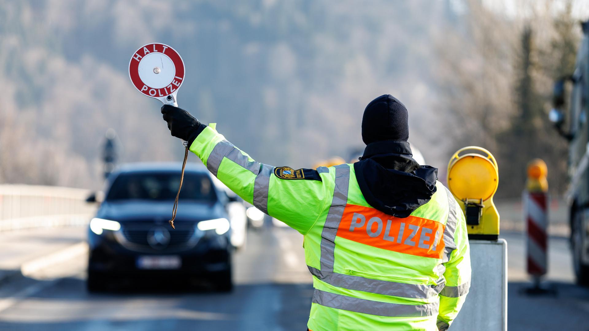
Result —
[{"label": "black jacket hood hanging over the officer's neck and upper back", "polygon": [[368,144],[354,164],[366,202],[385,214],[405,218],[428,203],[436,191],[438,169],[420,166],[406,141]]}]

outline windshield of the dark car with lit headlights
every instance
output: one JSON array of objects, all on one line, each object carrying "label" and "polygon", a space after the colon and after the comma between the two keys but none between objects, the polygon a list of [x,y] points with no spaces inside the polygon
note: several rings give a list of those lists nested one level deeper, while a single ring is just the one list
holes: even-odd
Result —
[{"label": "windshield of the dark car with lit headlights", "polygon": [[[174,200],[178,185],[180,173],[123,173],[115,178],[106,200]],[[216,198],[209,176],[184,174],[180,200],[214,201]]]}]

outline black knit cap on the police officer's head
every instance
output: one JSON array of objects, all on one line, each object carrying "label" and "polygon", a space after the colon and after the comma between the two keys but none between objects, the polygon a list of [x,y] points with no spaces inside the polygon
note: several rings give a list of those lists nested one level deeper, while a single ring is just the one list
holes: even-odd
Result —
[{"label": "black knit cap on the police officer's head", "polygon": [[405,105],[391,94],[370,101],[362,117],[362,140],[366,145],[375,141],[409,139],[408,113]]}]

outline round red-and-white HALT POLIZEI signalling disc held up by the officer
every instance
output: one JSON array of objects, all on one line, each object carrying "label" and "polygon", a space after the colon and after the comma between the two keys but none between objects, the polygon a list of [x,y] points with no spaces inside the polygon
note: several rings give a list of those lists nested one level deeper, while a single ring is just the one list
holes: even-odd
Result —
[{"label": "round red-and-white HALT POLIZEI signalling disc held up by the officer", "polygon": [[148,97],[168,103],[164,98],[173,95],[175,101],[184,81],[184,61],[176,49],[168,45],[147,44],[131,57],[129,77],[135,88]]}]

